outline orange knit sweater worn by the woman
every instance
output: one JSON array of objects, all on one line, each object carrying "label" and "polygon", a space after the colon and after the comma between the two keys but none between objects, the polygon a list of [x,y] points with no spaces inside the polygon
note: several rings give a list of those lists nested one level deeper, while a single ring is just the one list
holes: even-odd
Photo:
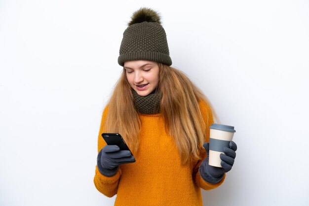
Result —
[{"label": "orange knit sweater worn by the woman", "polygon": [[[200,103],[206,121],[207,107]],[[103,122],[108,109],[105,108],[98,137],[98,151],[105,145],[101,137]],[[202,160],[181,164],[180,156],[173,139],[166,134],[161,114],[139,114],[141,119],[140,147],[134,157],[135,163],[119,166],[116,175],[102,175],[96,167],[94,184],[108,197],[117,194],[115,206],[202,206],[200,188],[210,190],[221,185],[224,178],[210,184],[199,175],[198,167]],[[212,116],[209,118],[213,120]],[[213,121],[210,121],[211,125]],[[207,125],[209,128],[210,125]],[[205,139],[209,141],[209,129]]]}]

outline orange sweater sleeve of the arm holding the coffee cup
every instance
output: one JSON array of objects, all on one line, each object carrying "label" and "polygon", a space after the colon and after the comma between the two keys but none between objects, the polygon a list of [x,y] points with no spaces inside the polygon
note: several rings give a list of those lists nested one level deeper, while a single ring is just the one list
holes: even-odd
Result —
[{"label": "orange sweater sleeve of the arm holding the coffee cup", "polygon": [[[204,101],[201,101],[199,103],[199,107],[200,107],[200,110],[203,116],[204,123],[206,125],[205,141],[209,142],[209,135],[210,135],[209,127],[211,126],[212,123],[214,123],[212,110],[210,106]],[[224,174],[223,178],[215,184],[205,181],[199,174],[198,169],[202,161],[207,157],[206,151],[202,150],[200,153],[200,156],[201,156],[201,159],[196,163],[196,165],[193,168],[193,179],[195,180],[196,185],[203,188],[204,190],[215,189],[216,187],[220,186],[224,182],[226,174]]]}]

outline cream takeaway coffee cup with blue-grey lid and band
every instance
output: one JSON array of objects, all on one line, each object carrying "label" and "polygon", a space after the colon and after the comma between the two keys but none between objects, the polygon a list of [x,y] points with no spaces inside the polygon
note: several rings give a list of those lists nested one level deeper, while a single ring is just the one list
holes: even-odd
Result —
[{"label": "cream takeaway coffee cup with blue-grey lid and band", "polygon": [[225,154],[223,148],[229,148],[235,132],[234,127],[228,125],[212,124],[210,126],[209,165],[222,168],[220,154]]}]

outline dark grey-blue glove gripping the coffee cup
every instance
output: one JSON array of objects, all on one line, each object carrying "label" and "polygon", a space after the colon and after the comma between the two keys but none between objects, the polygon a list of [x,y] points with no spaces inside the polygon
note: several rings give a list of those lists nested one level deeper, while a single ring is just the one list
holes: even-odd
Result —
[{"label": "dark grey-blue glove gripping the coffee cup", "polygon": [[235,142],[231,141],[229,145],[230,148],[224,147],[223,151],[225,154],[220,154],[222,168],[210,166],[208,164],[209,143],[205,142],[203,146],[207,152],[207,158],[201,163],[199,173],[205,181],[217,183],[223,178],[225,172],[229,172],[232,169],[236,157],[235,151],[237,150],[237,145]]}]

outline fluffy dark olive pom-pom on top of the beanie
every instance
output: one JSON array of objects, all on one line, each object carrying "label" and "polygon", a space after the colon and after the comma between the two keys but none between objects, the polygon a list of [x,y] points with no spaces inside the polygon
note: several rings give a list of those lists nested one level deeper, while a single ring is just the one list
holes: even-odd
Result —
[{"label": "fluffy dark olive pom-pom on top of the beanie", "polygon": [[161,24],[160,20],[161,17],[158,12],[154,11],[151,8],[144,7],[140,8],[132,14],[131,21],[128,23],[128,26],[142,22],[156,22],[158,24]]}]

